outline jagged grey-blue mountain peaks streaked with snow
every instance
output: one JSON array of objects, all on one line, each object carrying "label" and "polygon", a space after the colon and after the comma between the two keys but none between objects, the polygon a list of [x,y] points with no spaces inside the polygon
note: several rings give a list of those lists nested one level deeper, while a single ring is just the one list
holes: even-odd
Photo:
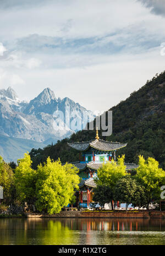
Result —
[{"label": "jagged grey-blue mountain peaks streaked with snow", "polygon": [[[59,115],[59,111],[62,115]],[[50,88],[43,90],[30,102],[19,100],[10,87],[0,90],[0,132],[8,137],[55,143],[82,129],[83,126],[76,128],[74,118],[78,117],[77,121],[81,123],[83,111],[87,112],[90,120],[94,118],[91,111],[68,97],[57,99]],[[68,115],[70,123],[66,124]]]}]

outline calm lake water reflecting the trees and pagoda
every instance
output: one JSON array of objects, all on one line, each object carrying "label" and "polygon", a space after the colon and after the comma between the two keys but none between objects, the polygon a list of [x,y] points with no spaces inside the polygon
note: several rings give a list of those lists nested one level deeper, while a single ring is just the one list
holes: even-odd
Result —
[{"label": "calm lake water reflecting the trees and pagoda", "polygon": [[165,220],[0,219],[0,244],[165,244]]}]

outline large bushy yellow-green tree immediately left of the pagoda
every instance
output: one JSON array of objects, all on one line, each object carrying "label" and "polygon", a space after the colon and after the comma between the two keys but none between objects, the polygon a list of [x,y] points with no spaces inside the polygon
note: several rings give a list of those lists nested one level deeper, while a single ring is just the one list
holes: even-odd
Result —
[{"label": "large bushy yellow-green tree immediately left of the pagoda", "polygon": [[61,209],[73,201],[78,189],[78,169],[72,164],[62,165],[61,161],[47,162],[37,168],[36,206],[48,214],[59,213]]}]

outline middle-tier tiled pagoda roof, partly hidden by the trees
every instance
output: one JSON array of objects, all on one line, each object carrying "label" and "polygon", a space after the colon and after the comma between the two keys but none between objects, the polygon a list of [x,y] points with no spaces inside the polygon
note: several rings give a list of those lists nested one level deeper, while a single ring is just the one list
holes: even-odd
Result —
[{"label": "middle-tier tiled pagoda roof, partly hidden by the trees", "polygon": [[[83,171],[85,170],[86,167],[89,167],[90,169],[93,169],[93,170],[97,170],[98,168],[100,168],[103,164],[106,164],[105,163],[96,163],[96,162],[89,162],[89,163],[85,163],[85,164],[80,164],[80,162],[72,162],[71,164],[75,165],[80,171]],[[138,168],[138,165],[136,164],[130,164],[130,163],[124,163],[124,165],[126,166],[126,171],[129,171],[129,170],[134,170],[136,168]]]}]

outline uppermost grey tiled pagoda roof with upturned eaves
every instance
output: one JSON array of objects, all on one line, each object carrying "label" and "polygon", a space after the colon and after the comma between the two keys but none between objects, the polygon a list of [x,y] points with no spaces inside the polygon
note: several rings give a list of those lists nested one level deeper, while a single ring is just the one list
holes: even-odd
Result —
[{"label": "uppermost grey tiled pagoda roof with upturned eaves", "polygon": [[110,142],[101,139],[95,139],[85,142],[68,143],[68,145],[79,151],[86,151],[87,149],[94,148],[101,151],[113,151],[127,146],[127,143]]}]

